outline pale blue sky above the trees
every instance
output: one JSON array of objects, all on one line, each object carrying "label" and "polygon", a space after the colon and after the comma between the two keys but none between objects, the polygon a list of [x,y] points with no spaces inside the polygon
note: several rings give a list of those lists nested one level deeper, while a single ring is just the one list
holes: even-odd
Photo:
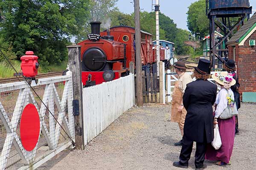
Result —
[{"label": "pale blue sky above the trees", "polygon": [[[191,3],[197,0],[159,0],[160,11],[166,16],[170,17],[177,24],[178,28],[186,29],[186,12]],[[126,14],[134,12],[134,6],[131,3],[133,0],[118,0],[116,6],[119,10]],[[155,0],[153,0],[155,2]],[[256,0],[249,0],[250,6],[256,10]],[[140,8],[144,11],[152,11],[152,0],[140,0]],[[255,11],[253,11],[254,13]]]}]

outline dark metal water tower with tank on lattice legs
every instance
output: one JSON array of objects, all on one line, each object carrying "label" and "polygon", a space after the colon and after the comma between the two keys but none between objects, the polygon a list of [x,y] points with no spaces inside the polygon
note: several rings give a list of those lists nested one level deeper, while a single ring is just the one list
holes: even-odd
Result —
[{"label": "dark metal water tower with tank on lattice legs", "polygon": [[[215,57],[219,59],[221,67],[224,62],[222,57],[227,58],[225,42],[244,24],[246,18],[249,19],[251,13],[249,0],[206,0],[206,14],[210,23],[210,60],[213,69]],[[216,28],[224,34],[223,37],[215,38]]]}]

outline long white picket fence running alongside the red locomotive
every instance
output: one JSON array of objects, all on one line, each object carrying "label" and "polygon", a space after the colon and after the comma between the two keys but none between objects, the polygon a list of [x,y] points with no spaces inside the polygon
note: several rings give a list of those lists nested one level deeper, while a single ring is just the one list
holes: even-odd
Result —
[{"label": "long white picket fence running alongside the red locomotive", "polygon": [[134,74],[83,89],[84,141],[89,143],[135,104]]}]

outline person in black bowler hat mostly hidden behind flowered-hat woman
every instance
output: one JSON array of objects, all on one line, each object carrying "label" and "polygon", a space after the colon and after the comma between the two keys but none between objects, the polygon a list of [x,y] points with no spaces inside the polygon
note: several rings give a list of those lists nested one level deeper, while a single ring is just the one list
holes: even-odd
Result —
[{"label": "person in black bowler hat mostly hidden behind flowered-hat woman", "polygon": [[[234,98],[236,102],[236,108],[237,110],[241,107],[240,102],[240,94],[239,94],[239,78],[236,74],[236,62],[233,59],[228,59],[227,62],[225,62],[224,68],[227,72],[233,74],[233,79],[236,80],[236,84],[231,86],[231,90],[234,93]],[[236,135],[239,135],[239,129],[238,129],[238,116],[236,116]]]}]

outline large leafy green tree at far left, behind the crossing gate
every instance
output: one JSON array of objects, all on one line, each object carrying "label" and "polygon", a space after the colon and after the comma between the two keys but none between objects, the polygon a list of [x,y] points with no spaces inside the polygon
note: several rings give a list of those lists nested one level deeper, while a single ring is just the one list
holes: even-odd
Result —
[{"label": "large leafy green tree at far left, behind the crossing gate", "polygon": [[4,0],[0,34],[19,58],[34,51],[41,65],[67,59],[69,39],[89,17],[90,0]]}]

